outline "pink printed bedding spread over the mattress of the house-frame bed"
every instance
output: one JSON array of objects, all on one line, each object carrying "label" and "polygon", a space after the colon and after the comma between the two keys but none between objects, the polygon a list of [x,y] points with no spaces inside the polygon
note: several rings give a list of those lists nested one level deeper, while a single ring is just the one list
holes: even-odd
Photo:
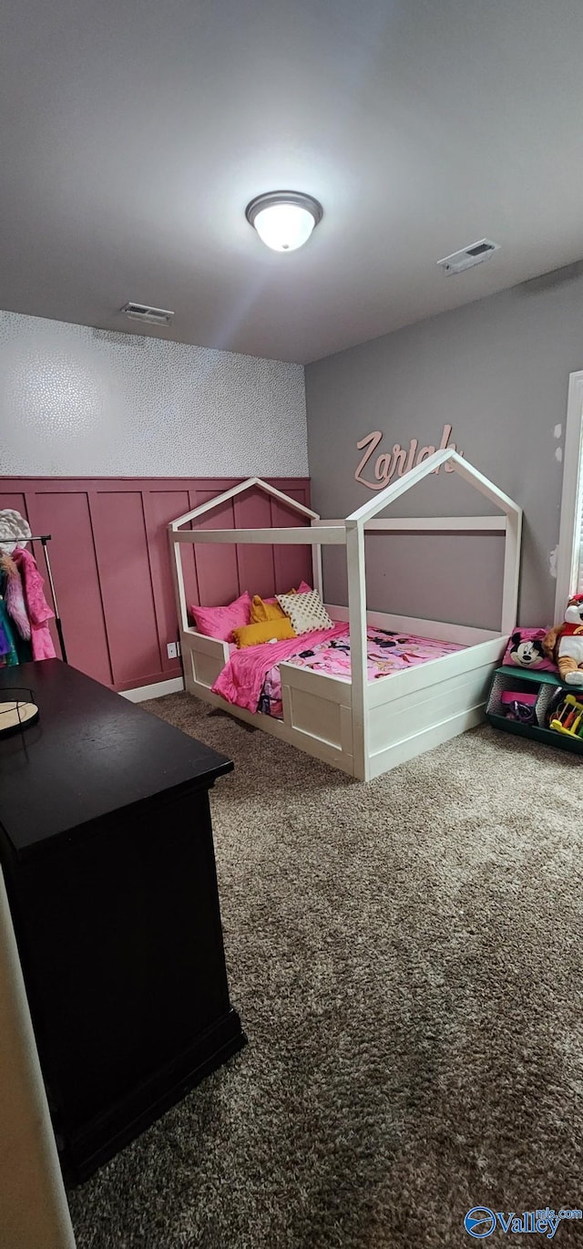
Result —
[{"label": "pink printed bedding spread over the mattress of the house-frame bed", "polygon": [[[438,659],[463,647],[453,642],[436,642],[432,638],[367,629],[368,679],[392,676],[428,659]],[[346,623],[331,629],[303,633],[286,642],[266,642],[233,651],[218,674],[212,692],[227,702],[247,711],[262,711],[281,718],[280,663],[293,663],[301,668],[325,672],[350,681],[350,633]]]}]

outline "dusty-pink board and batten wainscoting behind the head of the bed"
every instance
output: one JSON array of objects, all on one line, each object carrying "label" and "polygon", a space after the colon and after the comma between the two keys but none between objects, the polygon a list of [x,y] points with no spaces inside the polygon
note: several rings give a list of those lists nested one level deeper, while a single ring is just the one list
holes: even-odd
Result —
[{"label": "dusty-pink board and batten wainscoting behind the head of the bed", "polygon": [[[32,533],[52,536],[70,663],[120,691],[180,677],[180,661],[166,652],[177,637],[166,526],[241,480],[0,477],[0,508],[16,508]],[[310,506],[308,478],[268,480]],[[302,523],[258,491],[231,500],[205,522],[210,528]],[[46,577],[40,543],[34,552]],[[245,590],[272,595],[310,581],[311,555],[307,547],[198,546],[184,551],[184,568],[189,602],[215,606]],[[56,632],[54,638],[59,654]]]}]

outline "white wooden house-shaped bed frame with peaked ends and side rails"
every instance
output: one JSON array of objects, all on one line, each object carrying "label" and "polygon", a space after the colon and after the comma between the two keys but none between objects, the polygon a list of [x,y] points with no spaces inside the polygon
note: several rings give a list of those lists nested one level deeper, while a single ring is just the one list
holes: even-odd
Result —
[{"label": "white wooden house-shaped bed frame with peaked ends and side rails", "polygon": [[[376,518],[387,505],[412,486],[448,463],[502,513],[501,516],[453,516]],[[260,530],[184,530],[182,526],[207,518],[213,508],[250,488],[260,488],[302,513],[308,523],[297,528]],[[367,612],[365,535],[370,532],[471,532],[496,531],[504,535],[502,620],[499,632],[417,620],[383,612]],[[342,768],[362,781],[387,772],[406,759],[431,749],[478,724],[488,678],[499,663],[514,628],[518,602],[522,508],[493,482],[473,468],[452,448],[437,451],[406,476],[393,481],[370,502],[343,521],[322,521],[316,512],[282,495],[268,482],[251,477],[207,503],[179,516],[169,526],[172,575],[180,620],[185,682],[190,693],[228,711],[247,723],[280,737],[316,758]],[[281,663],[283,719],[252,713],[226,703],[211,686],[218,677],[230,651],[226,642],[205,637],[189,623],[181,548],[187,543],[262,543],[307,545],[312,548],[313,585],[322,595],[322,546],[346,547],[348,607],[326,603],[331,618],[348,621],[352,679],[311,672]],[[464,649],[370,681],[367,673],[367,624],[376,628],[411,632],[442,642],[454,642]]]}]

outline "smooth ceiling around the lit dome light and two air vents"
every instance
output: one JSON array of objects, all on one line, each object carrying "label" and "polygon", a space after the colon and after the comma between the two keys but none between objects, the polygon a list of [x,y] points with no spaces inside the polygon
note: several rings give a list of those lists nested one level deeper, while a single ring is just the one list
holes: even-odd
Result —
[{"label": "smooth ceiling around the lit dome light and two air vents", "polygon": [[[582,0],[7,0],[0,306],[305,362],[567,265],[582,50]],[[325,207],[288,255],[281,187]]]}]

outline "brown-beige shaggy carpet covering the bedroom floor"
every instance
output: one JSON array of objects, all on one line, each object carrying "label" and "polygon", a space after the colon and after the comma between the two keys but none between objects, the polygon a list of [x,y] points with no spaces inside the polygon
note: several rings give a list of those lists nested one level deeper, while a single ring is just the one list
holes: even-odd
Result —
[{"label": "brown-beige shaggy carpet covering the bedroom floor", "polygon": [[212,813],[248,1045],[71,1192],[79,1249],[449,1249],[473,1205],[582,1205],[582,761],[484,727],[365,786],[145,706],[236,763]]}]

